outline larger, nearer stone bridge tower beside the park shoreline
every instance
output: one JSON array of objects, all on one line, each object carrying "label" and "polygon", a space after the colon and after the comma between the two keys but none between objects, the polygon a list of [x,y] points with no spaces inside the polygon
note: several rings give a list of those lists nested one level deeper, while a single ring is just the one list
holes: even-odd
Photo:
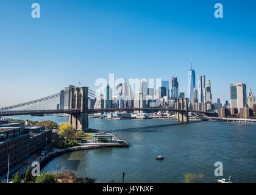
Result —
[{"label": "larger, nearer stone bridge tower beside the park shoreline", "polygon": [[69,115],[69,124],[74,129],[88,129],[88,87],[71,88],[69,109],[80,109],[80,113]]}]

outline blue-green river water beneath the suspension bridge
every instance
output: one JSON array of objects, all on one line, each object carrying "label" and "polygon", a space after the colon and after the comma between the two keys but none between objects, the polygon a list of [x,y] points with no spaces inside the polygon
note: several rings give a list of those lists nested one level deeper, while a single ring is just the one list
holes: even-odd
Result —
[{"label": "blue-green river water beneath the suspension bridge", "polygon": [[[41,120],[50,117],[56,122],[68,121],[54,116]],[[89,119],[89,124],[115,133],[130,147],[65,154],[44,170],[54,171],[59,164],[60,169],[73,169],[96,182],[122,182],[123,172],[125,182],[182,182],[186,172],[201,172],[204,182],[215,182],[222,177],[215,177],[214,164],[221,161],[225,178],[231,175],[233,182],[256,182],[255,124],[97,118]],[[157,155],[165,160],[155,160]]]}]

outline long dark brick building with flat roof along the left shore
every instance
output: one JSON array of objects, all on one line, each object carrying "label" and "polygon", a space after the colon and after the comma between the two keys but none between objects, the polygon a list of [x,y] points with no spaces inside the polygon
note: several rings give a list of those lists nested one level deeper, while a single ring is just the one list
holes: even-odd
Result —
[{"label": "long dark brick building with flat roof along the left shore", "polygon": [[[13,126],[12,126],[13,124]],[[0,176],[52,141],[52,130],[43,126],[24,127],[24,123],[0,121]]]}]

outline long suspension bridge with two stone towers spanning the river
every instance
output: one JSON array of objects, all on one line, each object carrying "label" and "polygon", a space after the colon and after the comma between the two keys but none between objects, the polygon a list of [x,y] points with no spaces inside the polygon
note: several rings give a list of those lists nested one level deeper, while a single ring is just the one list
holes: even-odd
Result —
[{"label": "long suspension bridge with two stone towers spanning the river", "polygon": [[[60,102],[60,96],[69,97],[69,107],[67,109],[57,109]],[[177,108],[169,107],[145,107],[145,108],[88,108],[88,99],[101,98],[102,95],[89,90],[88,87],[73,87],[64,93],[56,93],[51,96],[36,99],[34,101],[24,102],[9,107],[0,108],[1,116],[16,115],[45,115],[45,114],[69,114],[69,124],[75,129],[88,129],[88,114],[107,113],[107,112],[135,112],[135,111],[169,111],[177,113],[177,121],[188,122],[188,112],[202,113],[205,116],[216,116],[215,112],[202,112],[188,110],[188,99],[177,99]]]}]

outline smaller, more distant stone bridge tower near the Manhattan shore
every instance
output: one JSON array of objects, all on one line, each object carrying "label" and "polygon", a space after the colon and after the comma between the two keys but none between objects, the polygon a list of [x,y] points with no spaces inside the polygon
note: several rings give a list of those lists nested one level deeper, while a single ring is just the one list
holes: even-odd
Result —
[{"label": "smaller, more distant stone bridge tower near the Manhattan shore", "polygon": [[177,109],[185,110],[177,112],[177,121],[188,122],[188,98],[177,99]]}]

